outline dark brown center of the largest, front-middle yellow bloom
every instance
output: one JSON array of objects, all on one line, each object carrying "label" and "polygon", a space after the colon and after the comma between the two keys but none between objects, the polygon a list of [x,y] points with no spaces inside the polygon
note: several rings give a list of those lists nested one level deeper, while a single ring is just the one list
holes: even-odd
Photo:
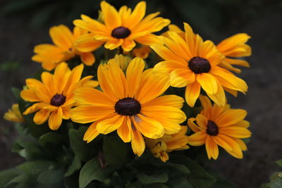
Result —
[{"label": "dark brown center of the largest, front-middle yellow bloom", "polygon": [[119,115],[136,115],[141,111],[141,104],[133,98],[123,98],[116,102],[115,110]]}]

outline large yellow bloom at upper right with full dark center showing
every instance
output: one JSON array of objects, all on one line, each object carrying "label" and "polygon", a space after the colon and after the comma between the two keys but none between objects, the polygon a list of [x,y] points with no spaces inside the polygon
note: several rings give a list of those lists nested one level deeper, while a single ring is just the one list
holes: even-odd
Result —
[{"label": "large yellow bloom at upper right with full dark center showing", "polygon": [[168,32],[170,38],[164,37],[166,46],[151,46],[164,59],[154,66],[154,71],[170,73],[171,86],[186,87],[185,99],[189,106],[195,105],[201,88],[219,106],[226,104],[223,89],[247,92],[244,80],[219,67],[225,57],[214,43],[203,42],[187,23],[184,27],[185,39],[176,32]]}]

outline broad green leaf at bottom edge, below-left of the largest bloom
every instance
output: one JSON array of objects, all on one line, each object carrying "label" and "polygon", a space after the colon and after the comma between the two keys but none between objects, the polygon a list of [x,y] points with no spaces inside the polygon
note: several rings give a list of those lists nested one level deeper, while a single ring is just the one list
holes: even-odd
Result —
[{"label": "broad green leaf at bottom edge, below-left of the largest bloom", "polygon": [[106,177],[112,173],[110,168],[101,168],[97,158],[93,158],[82,167],[79,176],[79,188],[84,188],[92,180],[104,182]]}]

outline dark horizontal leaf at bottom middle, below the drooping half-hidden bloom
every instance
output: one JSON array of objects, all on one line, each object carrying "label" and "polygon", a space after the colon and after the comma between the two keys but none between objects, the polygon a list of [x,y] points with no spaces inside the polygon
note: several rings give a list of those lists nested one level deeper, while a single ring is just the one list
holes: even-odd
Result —
[{"label": "dark horizontal leaf at bottom middle, below the drooping half-hidden bloom", "polygon": [[138,174],[137,179],[142,184],[165,183],[168,181],[168,175],[166,173],[160,173],[154,175]]}]

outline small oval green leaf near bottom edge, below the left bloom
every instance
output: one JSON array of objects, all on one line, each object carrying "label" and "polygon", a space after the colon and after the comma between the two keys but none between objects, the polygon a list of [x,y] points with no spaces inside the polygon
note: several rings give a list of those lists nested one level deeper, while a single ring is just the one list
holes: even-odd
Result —
[{"label": "small oval green leaf near bottom edge, below the left bloom", "polygon": [[46,170],[38,176],[37,182],[41,184],[56,184],[59,182],[63,182],[63,170],[62,169]]}]

